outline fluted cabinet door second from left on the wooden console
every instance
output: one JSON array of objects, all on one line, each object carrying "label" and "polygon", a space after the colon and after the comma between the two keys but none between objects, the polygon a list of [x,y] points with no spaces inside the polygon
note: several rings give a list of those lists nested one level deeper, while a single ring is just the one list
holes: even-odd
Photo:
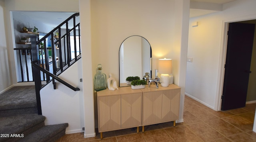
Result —
[{"label": "fluted cabinet door second from left on the wooden console", "polygon": [[121,127],[141,126],[141,121],[142,93],[121,95]]}]

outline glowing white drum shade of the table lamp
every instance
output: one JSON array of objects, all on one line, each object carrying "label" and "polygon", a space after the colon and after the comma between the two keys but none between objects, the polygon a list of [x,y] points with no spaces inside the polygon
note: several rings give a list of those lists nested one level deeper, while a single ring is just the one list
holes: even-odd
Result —
[{"label": "glowing white drum shade of the table lamp", "polygon": [[159,59],[158,72],[163,74],[172,74],[172,59]]}]

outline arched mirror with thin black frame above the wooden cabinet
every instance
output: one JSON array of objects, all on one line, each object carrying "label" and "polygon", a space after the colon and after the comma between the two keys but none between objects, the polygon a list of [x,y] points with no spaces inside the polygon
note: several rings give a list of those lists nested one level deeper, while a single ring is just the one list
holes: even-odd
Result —
[{"label": "arched mirror with thin black frame above the wooden cabinet", "polygon": [[119,49],[119,87],[126,84],[126,77],[152,74],[152,50],[149,42],[142,36],[130,36],[124,39]]}]

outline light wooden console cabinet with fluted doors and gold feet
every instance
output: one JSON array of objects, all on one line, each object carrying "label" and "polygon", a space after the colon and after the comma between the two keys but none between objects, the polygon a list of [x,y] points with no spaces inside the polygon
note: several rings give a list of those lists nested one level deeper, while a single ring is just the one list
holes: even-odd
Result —
[{"label": "light wooden console cabinet with fluted doors and gold feet", "polygon": [[150,85],[144,89],[120,87],[97,92],[98,131],[102,132],[178,120],[180,87]]}]

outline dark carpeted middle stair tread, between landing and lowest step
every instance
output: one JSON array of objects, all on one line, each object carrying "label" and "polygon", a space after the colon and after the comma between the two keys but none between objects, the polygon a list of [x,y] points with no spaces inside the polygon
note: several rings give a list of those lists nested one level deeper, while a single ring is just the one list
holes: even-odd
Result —
[{"label": "dark carpeted middle stair tread, between landing and lowest step", "polygon": [[0,134],[22,134],[22,132],[44,122],[44,120],[45,116],[38,114],[0,117]]}]

